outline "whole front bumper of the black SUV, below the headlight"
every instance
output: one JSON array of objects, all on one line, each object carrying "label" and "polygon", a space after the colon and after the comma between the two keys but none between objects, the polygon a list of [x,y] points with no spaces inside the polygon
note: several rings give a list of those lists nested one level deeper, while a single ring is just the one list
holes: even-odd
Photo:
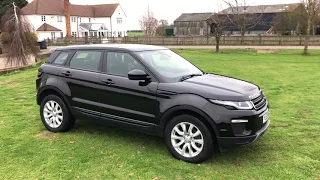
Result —
[{"label": "whole front bumper of the black SUV, below the headlight", "polygon": [[[264,122],[264,115],[269,112],[268,103],[260,110],[228,110],[208,103],[203,110],[214,122],[215,135],[221,151],[256,141],[270,125],[269,119]],[[238,123],[233,123],[232,120],[238,120]]]}]

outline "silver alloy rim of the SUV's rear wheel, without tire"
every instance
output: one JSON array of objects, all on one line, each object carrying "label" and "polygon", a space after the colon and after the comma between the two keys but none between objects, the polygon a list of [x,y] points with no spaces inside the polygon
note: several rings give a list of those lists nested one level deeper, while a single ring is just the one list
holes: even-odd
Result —
[{"label": "silver alloy rim of the SUV's rear wheel, without tire", "polygon": [[48,101],[43,107],[43,117],[51,128],[58,128],[63,121],[63,111],[56,101]]}]

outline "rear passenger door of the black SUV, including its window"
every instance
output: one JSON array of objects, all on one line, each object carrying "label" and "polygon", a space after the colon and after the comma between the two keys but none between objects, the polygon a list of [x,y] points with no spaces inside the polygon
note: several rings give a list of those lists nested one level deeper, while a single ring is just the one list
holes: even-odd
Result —
[{"label": "rear passenger door of the black SUV, including its window", "polygon": [[69,91],[74,114],[99,118],[99,82],[103,51],[78,50],[60,70],[60,85]]}]

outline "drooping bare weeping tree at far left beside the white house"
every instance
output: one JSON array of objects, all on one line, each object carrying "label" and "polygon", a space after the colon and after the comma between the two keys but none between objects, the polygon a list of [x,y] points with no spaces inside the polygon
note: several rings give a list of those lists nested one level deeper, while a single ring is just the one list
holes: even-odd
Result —
[{"label": "drooping bare weeping tree at far left beside the white house", "polygon": [[30,55],[38,57],[37,37],[14,2],[12,8],[9,8],[2,17],[2,31],[2,42],[8,47],[6,54],[8,64],[26,65]]}]

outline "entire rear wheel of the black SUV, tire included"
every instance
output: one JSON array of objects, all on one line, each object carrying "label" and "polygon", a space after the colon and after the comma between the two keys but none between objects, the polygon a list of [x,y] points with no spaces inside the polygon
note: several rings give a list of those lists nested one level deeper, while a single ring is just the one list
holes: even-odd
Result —
[{"label": "entire rear wheel of the black SUV, tire included", "polygon": [[[52,108],[54,107],[54,108]],[[40,105],[40,116],[43,125],[51,132],[70,130],[75,119],[64,101],[56,95],[46,96]]]}]

